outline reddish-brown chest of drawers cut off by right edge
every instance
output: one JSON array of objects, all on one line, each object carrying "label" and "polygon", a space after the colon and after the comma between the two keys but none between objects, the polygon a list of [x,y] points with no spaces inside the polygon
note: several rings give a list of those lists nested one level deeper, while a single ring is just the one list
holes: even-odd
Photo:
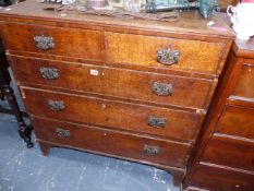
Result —
[{"label": "reddish-brown chest of drawers cut off by right edge", "polygon": [[235,40],[226,67],[186,190],[254,189],[254,39]]}]

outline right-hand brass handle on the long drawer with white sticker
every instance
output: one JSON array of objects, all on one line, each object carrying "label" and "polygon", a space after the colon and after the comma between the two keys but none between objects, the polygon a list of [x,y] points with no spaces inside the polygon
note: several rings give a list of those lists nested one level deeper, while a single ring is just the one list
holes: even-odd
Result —
[{"label": "right-hand brass handle on the long drawer with white sticker", "polygon": [[152,85],[152,91],[158,96],[171,96],[173,94],[173,85],[154,82]]}]

